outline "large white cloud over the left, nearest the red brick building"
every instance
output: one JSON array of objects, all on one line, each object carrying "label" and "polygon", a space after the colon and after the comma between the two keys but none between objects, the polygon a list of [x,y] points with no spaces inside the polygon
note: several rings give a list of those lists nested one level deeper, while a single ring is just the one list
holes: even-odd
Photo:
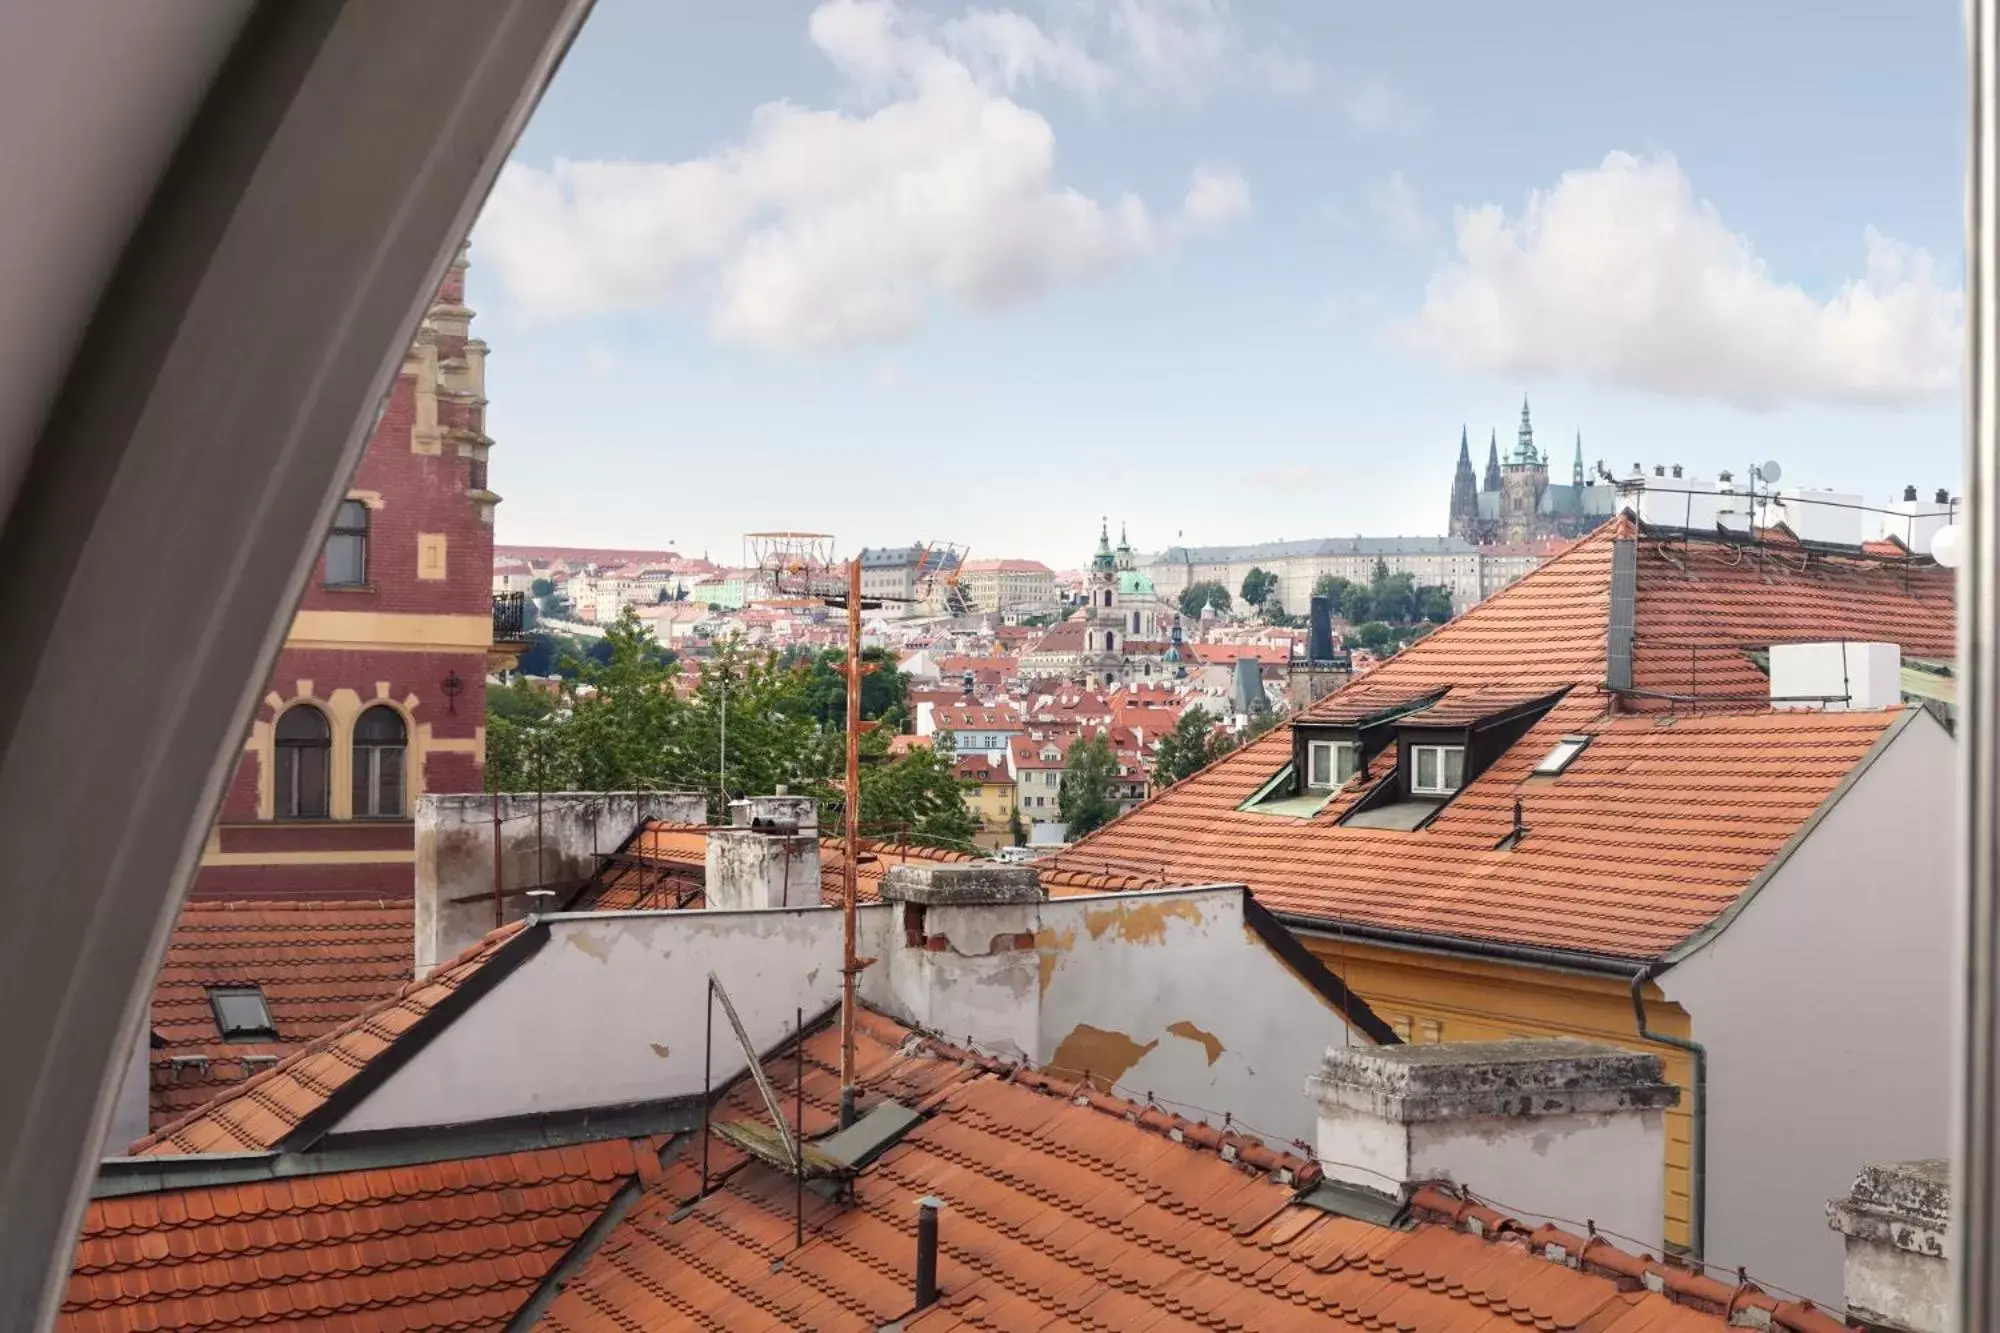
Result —
[{"label": "large white cloud over the left, nearest the red brick building", "polygon": [[[716,336],[782,350],[896,338],[936,302],[1004,310],[1160,250],[1146,204],[1064,186],[1048,120],[996,86],[1074,68],[1028,20],[966,22],[954,50],[890,0],[824,0],[810,36],[864,108],[772,102],[688,162],[510,162],[480,250],[524,316],[702,300]],[[1184,208],[1214,226],[1248,188],[1196,176]]]}]

